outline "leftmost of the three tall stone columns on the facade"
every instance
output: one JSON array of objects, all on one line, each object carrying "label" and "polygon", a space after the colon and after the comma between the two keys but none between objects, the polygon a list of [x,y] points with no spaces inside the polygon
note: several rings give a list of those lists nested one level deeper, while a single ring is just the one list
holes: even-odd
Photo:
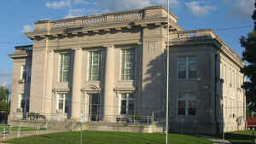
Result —
[{"label": "leftmost of the three tall stone columns on the facade", "polygon": [[52,83],[54,73],[54,51],[49,50],[47,54],[47,70],[46,70],[46,83],[45,83],[45,95],[44,95],[44,112],[45,116],[50,115],[51,112],[51,100],[52,100]]}]

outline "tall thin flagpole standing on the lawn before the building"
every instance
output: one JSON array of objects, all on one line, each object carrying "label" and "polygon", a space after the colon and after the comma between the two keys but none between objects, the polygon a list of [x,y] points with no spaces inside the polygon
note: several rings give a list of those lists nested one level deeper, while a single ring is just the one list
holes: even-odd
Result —
[{"label": "tall thin flagpole standing on the lawn before the building", "polygon": [[168,144],[168,132],[169,132],[169,29],[170,29],[170,22],[169,22],[169,9],[170,9],[170,1],[168,0],[167,3],[167,49],[166,49],[166,144]]}]

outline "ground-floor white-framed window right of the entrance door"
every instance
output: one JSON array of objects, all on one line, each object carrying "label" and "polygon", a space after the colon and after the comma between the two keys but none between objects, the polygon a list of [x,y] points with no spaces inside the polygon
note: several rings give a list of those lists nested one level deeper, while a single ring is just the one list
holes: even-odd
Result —
[{"label": "ground-floor white-framed window right of the entrance door", "polygon": [[[125,95],[126,97],[123,98],[123,95]],[[129,95],[133,95],[133,98],[131,98]],[[126,101],[126,110],[125,110],[125,114],[122,114],[122,101],[125,100]],[[128,116],[129,114],[129,101],[133,101],[133,114],[136,114],[136,95],[135,93],[120,93],[119,94],[119,115],[121,116]]]}]

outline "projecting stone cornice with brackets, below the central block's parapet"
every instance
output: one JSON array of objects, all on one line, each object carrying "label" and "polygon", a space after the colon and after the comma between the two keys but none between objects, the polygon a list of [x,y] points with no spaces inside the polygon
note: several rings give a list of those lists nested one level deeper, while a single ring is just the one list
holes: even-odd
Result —
[{"label": "projecting stone cornice with brackets, below the central block's parapet", "polygon": [[[35,31],[27,32],[26,37],[31,38],[32,40],[44,39],[44,38],[57,38],[57,37],[67,37],[69,35],[86,35],[90,33],[101,33],[101,32],[121,32],[124,29],[132,28],[147,28],[149,25],[155,26],[165,26],[167,24],[166,17],[156,17],[144,20],[133,20],[133,21],[122,21],[122,22],[105,22],[102,25],[97,26],[73,26],[69,28],[59,28],[52,29],[50,31]],[[174,25],[174,23],[173,23]],[[180,28],[175,24],[177,28]]]}]

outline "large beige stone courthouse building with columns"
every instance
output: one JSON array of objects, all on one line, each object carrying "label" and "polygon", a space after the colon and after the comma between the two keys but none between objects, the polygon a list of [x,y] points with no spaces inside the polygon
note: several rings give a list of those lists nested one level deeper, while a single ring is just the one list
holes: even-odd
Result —
[{"label": "large beige stone courthouse building with columns", "polygon": [[184,31],[169,13],[168,30],[167,14],[154,6],[37,21],[26,33],[33,45],[9,55],[9,121],[36,112],[49,121],[161,125],[170,49],[170,130],[244,130],[245,63],[211,29]]}]

